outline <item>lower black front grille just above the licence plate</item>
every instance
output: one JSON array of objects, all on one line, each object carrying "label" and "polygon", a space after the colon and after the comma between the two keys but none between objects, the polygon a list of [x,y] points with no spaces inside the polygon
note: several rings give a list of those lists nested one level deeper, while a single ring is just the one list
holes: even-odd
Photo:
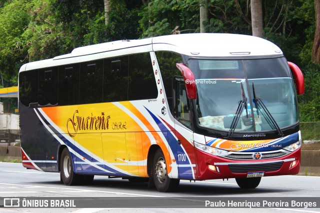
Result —
[{"label": "lower black front grille just above the licence plate", "polygon": [[266,163],[266,164],[230,164],[229,169],[232,173],[247,173],[247,172],[272,172],[281,168],[283,162]]}]

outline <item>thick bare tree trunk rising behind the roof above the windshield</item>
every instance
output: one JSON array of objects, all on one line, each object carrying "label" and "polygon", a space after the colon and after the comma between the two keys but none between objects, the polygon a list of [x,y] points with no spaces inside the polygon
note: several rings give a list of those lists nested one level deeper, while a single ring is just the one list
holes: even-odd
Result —
[{"label": "thick bare tree trunk rising behind the roof above the windshield", "polygon": [[263,37],[262,27],[262,1],[251,0],[251,24],[252,35],[257,37]]}]

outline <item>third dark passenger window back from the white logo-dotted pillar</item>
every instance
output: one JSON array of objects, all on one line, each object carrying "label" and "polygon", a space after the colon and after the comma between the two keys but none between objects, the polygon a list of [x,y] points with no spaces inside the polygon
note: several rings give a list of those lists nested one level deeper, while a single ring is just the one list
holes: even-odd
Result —
[{"label": "third dark passenger window back from the white logo-dotted pillar", "polygon": [[102,102],[103,60],[80,64],[80,104]]}]

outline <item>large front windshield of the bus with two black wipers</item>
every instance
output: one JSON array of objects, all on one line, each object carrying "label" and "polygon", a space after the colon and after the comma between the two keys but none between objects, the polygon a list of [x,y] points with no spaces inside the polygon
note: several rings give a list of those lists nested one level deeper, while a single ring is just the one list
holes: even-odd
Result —
[{"label": "large front windshield of the bus with two black wipers", "polygon": [[[285,58],[190,59],[200,127],[218,131],[274,131],[298,122]],[[186,82],[187,83],[187,82]]]}]

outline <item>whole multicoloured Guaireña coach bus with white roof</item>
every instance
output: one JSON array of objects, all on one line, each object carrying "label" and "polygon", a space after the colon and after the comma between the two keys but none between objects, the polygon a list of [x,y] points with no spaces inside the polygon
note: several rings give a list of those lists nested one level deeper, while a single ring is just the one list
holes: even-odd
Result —
[{"label": "whole multicoloured Guaire\u00f1a coach bus with white roof", "polygon": [[300,168],[300,69],[275,44],[223,33],[165,35],[78,47],[21,66],[22,165],[148,181],[261,177]]}]

